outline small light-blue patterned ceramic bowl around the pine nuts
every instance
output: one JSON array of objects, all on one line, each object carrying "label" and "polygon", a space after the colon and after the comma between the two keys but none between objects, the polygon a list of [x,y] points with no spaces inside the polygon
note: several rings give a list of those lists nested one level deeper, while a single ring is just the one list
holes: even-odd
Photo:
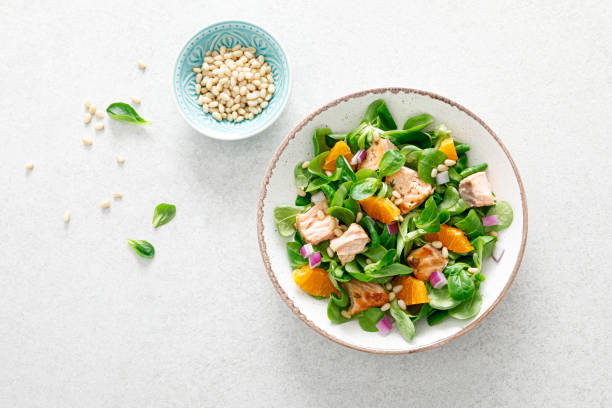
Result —
[{"label": "small light-blue patterned ceramic bowl around the pine nuts", "polygon": [[[272,68],[275,91],[269,105],[253,119],[240,123],[217,122],[198,104],[193,68],[202,66],[206,51],[218,50],[222,45],[232,48],[236,44],[254,47],[257,56],[265,57]],[[187,123],[206,136],[222,140],[244,139],[270,126],[283,111],[291,88],[289,61],[278,41],[262,28],[242,21],[224,21],[197,33],[181,50],[172,79],[176,103]]]}]

